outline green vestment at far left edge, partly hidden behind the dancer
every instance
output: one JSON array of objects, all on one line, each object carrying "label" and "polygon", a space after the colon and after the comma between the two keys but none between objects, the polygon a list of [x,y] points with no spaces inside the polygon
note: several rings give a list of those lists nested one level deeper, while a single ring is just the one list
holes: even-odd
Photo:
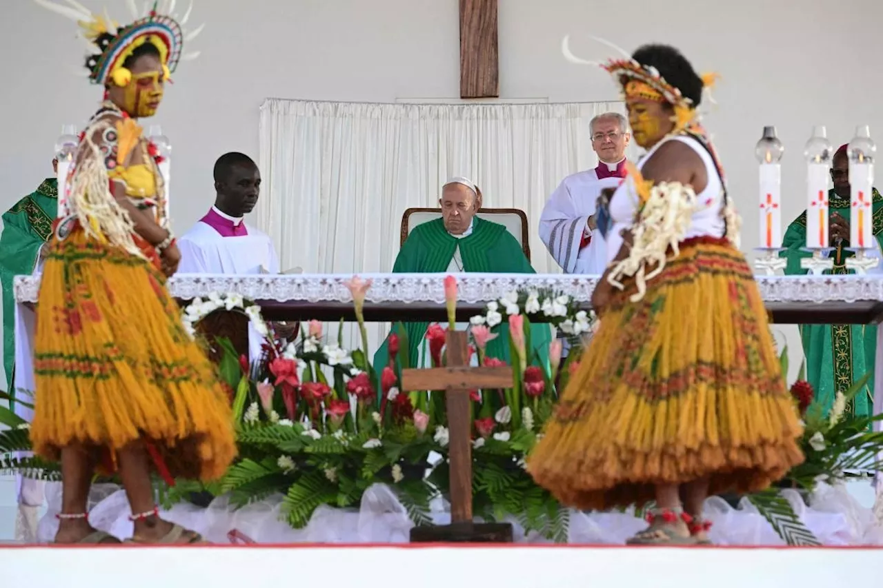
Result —
[{"label": "green vestment at far left edge, partly hidden behind the dancer", "polygon": [[12,391],[12,363],[15,359],[15,298],[12,278],[31,275],[40,247],[52,234],[58,209],[57,182],[50,177],[33,193],[19,200],[3,215],[0,233],[0,285],[3,286],[3,365]]}]

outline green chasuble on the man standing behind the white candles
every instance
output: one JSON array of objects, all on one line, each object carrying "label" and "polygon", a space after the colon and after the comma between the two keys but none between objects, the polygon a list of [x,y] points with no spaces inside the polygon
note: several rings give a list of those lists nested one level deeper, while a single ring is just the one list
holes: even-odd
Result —
[{"label": "green chasuble on the man standing behind the white candles", "polygon": [[[837,196],[834,190],[828,192],[830,213],[836,212],[849,219],[849,199]],[[883,197],[873,190],[872,231],[883,246]],[[787,275],[806,274],[800,267],[800,260],[811,253],[801,251],[806,245],[806,212],[796,218],[782,238],[781,253],[788,260]],[[826,274],[851,274],[844,260],[853,253],[835,250],[834,270]],[[877,327],[874,325],[801,325],[800,336],[804,343],[807,380],[816,391],[816,399],[830,409],[837,392],[846,392],[854,381],[871,374],[867,389],[859,392],[847,410],[857,415],[872,414],[874,389],[874,353],[877,348]],[[878,407],[878,411],[883,407]]]}]

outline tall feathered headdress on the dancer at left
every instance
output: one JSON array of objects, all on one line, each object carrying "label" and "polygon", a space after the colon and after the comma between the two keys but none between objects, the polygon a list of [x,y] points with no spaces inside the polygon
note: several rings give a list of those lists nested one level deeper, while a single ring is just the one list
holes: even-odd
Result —
[{"label": "tall feathered headdress on the dancer at left", "polygon": [[182,55],[185,41],[192,41],[202,32],[205,25],[200,25],[190,32],[184,30],[193,9],[192,0],[181,19],[174,14],[176,0],[155,1],[139,11],[135,0],[127,0],[132,18],[130,25],[120,26],[110,19],[107,8],[104,14],[94,14],[76,0],[65,0],[69,5],[50,2],[50,0],[34,0],[43,8],[72,19],[80,26],[79,36],[86,42],[87,57],[84,75],[94,84],[105,85],[112,79],[118,86],[125,86],[131,78],[131,72],[123,64],[135,49],[144,43],[150,43],[160,53],[162,68],[166,78],[177,68],[179,61],[194,59],[199,52]]}]

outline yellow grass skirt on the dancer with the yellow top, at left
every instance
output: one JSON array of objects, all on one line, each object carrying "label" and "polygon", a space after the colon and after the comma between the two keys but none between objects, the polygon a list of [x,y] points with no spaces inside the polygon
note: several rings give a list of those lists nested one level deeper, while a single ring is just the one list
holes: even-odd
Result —
[{"label": "yellow grass skirt on the dancer with the yellow top, at left", "polygon": [[112,469],[140,440],[164,475],[217,479],[230,465],[229,397],[157,265],[79,228],[50,242],[34,341],[37,454],[57,459],[79,443]]}]

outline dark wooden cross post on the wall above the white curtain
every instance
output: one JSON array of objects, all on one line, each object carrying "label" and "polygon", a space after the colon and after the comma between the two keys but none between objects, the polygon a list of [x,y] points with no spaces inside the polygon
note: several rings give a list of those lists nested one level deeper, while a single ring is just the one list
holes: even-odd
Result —
[{"label": "dark wooden cross post on the wall above the white curtain", "polygon": [[460,97],[498,98],[498,0],[460,0]]}]

